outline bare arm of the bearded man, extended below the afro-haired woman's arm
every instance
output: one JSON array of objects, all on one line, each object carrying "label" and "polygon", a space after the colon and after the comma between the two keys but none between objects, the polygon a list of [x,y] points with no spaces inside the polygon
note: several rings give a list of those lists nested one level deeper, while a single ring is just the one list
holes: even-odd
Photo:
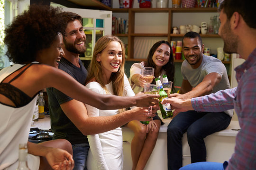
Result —
[{"label": "bare arm of the bearded man, extended below the afro-haired woman's arm", "polygon": [[84,103],[74,99],[61,104],[61,108],[73,124],[86,136],[110,131],[131,120],[150,121],[152,120],[150,117],[155,116],[145,114],[148,110],[143,109],[136,113],[133,110],[127,110],[112,116],[88,117]]}]

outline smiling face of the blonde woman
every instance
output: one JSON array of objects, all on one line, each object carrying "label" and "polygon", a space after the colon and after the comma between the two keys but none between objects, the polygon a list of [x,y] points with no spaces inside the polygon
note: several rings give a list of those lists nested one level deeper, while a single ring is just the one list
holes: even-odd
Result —
[{"label": "smiling face of the blonde woman", "polygon": [[110,78],[112,73],[116,73],[123,61],[121,44],[117,41],[110,42],[106,48],[97,54],[96,60],[101,62],[102,72]]}]

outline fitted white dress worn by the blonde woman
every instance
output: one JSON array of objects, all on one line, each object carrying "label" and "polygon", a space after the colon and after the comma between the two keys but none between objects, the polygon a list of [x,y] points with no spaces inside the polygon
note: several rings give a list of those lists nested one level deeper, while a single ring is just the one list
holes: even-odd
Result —
[{"label": "fitted white dress worn by the blonde woman", "polygon": [[[124,95],[134,96],[128,78],[124,78]],[[97,82],[86,85],[96,93],[107,94]],[[108,91],[113,94],[112,82],[106,85]],[[118,114],[118,110],[99,110],[86,104],[89,117],[110,116]],[[121,127],[108,132],[88,135],[90,149],[87,156],[88,170],[122,170],[123,169],[123,136]]]}]

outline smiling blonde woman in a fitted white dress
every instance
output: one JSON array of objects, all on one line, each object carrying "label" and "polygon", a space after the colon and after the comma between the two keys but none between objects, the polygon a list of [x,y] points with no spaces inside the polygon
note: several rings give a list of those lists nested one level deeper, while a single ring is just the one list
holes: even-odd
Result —
[{"label": "smiling blonde woman in a fitted white dress", "polygon": [[[124,44],[113,35],[101,37],[95,44],[91,64],[88,69],[86,87],[100,94],[134,96],[128,78],[124,73]],[[90,117],[110,116],[121,110],[99,110],[86,104]],[[127,112],[147,113],[146,108],[133,108]],[[122,170],[123,148],[121,127],[89,135],[90,150],[87,158],[88,170]]]}]

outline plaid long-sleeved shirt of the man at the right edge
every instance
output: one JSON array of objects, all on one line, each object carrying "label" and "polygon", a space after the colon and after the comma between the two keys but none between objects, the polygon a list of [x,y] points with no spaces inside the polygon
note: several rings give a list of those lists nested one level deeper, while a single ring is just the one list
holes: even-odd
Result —
[{"label": "plaid long-sleeved shirt of the man at the right edge", "polygon": [[242,130],[238,132],[235,153],[226,170],[253,170],[256,168],[256,49],[235,71],[238,87],[192,98],[192,107],[211,112],[235,108]]}]

